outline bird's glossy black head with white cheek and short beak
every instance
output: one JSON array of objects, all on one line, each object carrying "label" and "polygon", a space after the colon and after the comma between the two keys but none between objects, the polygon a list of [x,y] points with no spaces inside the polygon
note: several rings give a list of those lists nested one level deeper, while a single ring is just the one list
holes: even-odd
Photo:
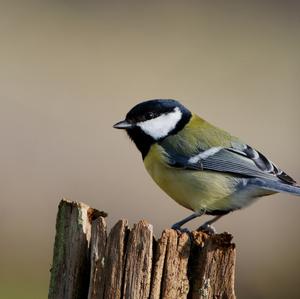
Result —
[{"label": "bird's glossy black head with white cheek and short beak", "polygon": [[176,100],[149,100],[134,106],[114,128],[125,129],[145,157],[153,143],[176,134],[190,118],[191,112]]}]

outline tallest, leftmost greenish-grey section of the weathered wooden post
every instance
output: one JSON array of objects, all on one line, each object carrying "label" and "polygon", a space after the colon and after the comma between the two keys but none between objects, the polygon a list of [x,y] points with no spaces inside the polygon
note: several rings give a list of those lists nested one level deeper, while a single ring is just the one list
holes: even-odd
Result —
[{"label": "tallest, leftmost greenish-grey section of the weathered wooden post", "polygon": [[89,243],[93,211],[63,199],[58,207],[49,299],[86,298],[89,287]]}]

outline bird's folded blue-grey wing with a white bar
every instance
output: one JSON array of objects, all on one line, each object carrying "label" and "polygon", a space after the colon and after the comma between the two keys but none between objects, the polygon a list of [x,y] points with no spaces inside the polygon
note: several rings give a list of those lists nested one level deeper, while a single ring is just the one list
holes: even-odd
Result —
[{"label": "bird's folded blue-grey wing with a white bar", "polygon": [[233,143],[231,147],[211,147],[199,150],[199,153],[192,157],[172,152],[170,149],[165,150],[171,167],[219,171],[244,177],[280,179],[288,184],[296,183],[263,154],[245,144]]}]

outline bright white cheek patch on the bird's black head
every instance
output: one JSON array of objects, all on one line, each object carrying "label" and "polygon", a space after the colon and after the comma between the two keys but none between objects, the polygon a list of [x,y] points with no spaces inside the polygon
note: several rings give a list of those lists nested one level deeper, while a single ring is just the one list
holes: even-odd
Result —
[{"label": "bright white cheek patch on the bird's black head", "polygon": [[173,112],[162,114],[156,118],[137,123],[147,135],[158,140],[166,137],[181,120],[182,113],[178,107]]}]

